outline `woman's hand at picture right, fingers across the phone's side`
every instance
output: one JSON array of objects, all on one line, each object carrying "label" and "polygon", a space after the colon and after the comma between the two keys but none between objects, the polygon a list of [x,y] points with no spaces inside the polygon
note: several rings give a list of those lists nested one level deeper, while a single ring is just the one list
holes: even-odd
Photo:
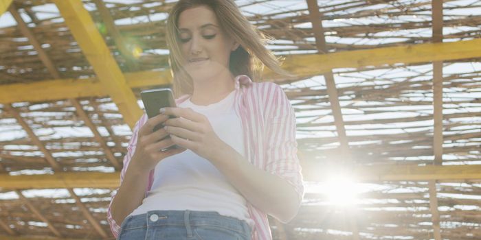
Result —
[{"label": "woman's hand at picture right, fingers across the phone's side", "polygon": [[191,108],[164,109],[161,114],[176,117],[164,122],[164,128],[170,134],[172,142],[211,160],[214,152],[219,150],[224,142],[214,132],[208,118]]}]

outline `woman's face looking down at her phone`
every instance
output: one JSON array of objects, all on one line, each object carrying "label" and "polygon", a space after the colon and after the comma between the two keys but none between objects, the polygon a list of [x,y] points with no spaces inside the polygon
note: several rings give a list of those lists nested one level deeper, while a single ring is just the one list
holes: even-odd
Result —
[{"label": "woman's face looking down at her phone", "polygon": [[184,10],[178,25],[179,45],[186,60],[182,64],[194,81],[209,80],[229,71],[230,53],[238,44],[225,35],[209,7]]}]

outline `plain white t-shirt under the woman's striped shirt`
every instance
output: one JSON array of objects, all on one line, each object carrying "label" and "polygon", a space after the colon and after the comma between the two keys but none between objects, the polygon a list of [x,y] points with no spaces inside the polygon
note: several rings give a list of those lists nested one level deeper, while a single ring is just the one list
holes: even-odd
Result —
[{"label": "plain white t-shirt under the woman's striped shirt", "polygon": [[[234,111],[234,93],[208,106],[195,105],[187,99],[178,107],[192,108],[208,117],[217,136],[245,156],[242,124]],[[189,149],[157,164],[152,189],[130,215],[154,210],[216,211],[254,226],[245,198],[209,160]]]}]

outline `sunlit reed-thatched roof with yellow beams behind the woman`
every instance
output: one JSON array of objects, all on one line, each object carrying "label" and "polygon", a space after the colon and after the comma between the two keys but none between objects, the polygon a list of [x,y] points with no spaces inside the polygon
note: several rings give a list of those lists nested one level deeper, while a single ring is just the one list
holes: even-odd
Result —
[{"label": "sunlit reed-thatched roof with yellow beams behind the woman", "polygon": [[[480,1],[236,2],[298,75],[265,73],[307,187],[275,239],[481,239]],[[139,91],[170,84],[174,3],[0,0],[0,239],[113,239]],[[335,172],[355,183],[320,183]]]}]

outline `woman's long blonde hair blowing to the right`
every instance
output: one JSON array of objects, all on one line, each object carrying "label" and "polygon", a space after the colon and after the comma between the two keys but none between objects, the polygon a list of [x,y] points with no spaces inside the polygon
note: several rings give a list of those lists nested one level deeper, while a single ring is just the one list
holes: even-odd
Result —
[{"label": "woman's long blonde hair blowing to the right", "polygon": [[167,45],[175,97],[192,95],[194,91],[192,78],[181,66],[184,61],[179,47],[178,21],[181,12],[199,5],[212,9],[223,32],[240,44],[230,54],[229,70],[233,75],[248,75],[252,81],[259,82],[264,66],[275,73],[290,75],[280,68],[280,59],[265,47],[268,38],[249,23],[233,0],[180,0],[170,10],[167,19]]}]

